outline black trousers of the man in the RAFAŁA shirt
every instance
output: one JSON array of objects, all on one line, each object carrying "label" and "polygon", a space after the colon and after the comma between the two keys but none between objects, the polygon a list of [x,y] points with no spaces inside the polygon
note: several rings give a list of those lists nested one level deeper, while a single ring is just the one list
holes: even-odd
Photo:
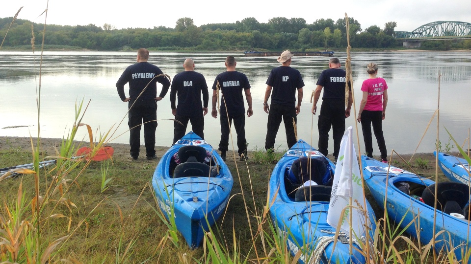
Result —
[{"label": "black trousers of the man in the RAFA\u0141A shirt", "polygon": [[235,132],[237,133],[237,153],[245,153],[247,144],[245,141],[245,114],[240,115],[222,115],[221,114],[221,141],[219,141],[219,150],[226,152],[229,150],[229,134],[231,132],[232,121],[234,121]]}]

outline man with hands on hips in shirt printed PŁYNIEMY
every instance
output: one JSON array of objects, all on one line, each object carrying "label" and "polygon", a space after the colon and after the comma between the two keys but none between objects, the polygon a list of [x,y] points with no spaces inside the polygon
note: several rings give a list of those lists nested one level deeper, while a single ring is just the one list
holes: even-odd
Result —
[{"label": "man with hands on hips in shirt printed P\u0141YNIEMY", "polygon": [[[139,156],[141,124],[144,122],[144,143],[147,159],[155,159],[156,129],[157,129],[157,101],[167,94],[170,81],[165,76],[159,76],[162,71],[155,65],[147,62],[149,50],[137,50],[137,63],[126,68],[116,83],[119,97],[128,102],[129,144],[131,158],[136,160]],[[157,82],[162,84],[162,90],[157,97]],[[124,93],[124,85],[129,83],[129,97]]]}]

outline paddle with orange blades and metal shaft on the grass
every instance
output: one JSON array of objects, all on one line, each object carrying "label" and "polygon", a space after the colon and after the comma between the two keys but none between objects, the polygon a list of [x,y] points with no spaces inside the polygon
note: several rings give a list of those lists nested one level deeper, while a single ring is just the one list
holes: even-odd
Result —
[{"label": "paddle with orange blades and metal shaft on the grass", "polygon": [[[114,149],[110,146],[105,146],[100,148],[95,154],[93,154],[92,150],[88,147],[82,147],[78,149],[77,151],[77,156],[73,156],[72,159],[78,159],[85,157],[87,160],[93,160],[93,161],[103,161],[108,158],[111,158],[113,156]],[[88,156],[88,157],[87,157]],[[55,164],[57,162],[57,159],[52,159],[52,160],[46,160],[46,161],[41,161],[39,162],[39,168],[44,168],[46,166]],[[10,172],[11,170],[15,169],[31,169],[34,167],[34,163],[28,163],[28,164],[23,164],[23,165],[17,165],[17,166],[11,166],[11,167],[6,167],[6,168],[1,168],[0,169],[0,176],[3,176]],[[13,172],[10,176],[17,175],[19,173]]]}]

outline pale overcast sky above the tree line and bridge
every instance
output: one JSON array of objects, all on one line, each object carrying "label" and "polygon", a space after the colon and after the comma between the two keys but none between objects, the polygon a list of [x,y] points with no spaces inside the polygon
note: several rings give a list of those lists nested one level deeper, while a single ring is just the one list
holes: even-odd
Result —
[{"label": "pale overcast sky above the tree line and bridge", "polygon": [[[43,23],[47,0],[3,0],[0,18],[13,17]],[[195,25],[234,23],[254,17],[267,22],[274,17],[304,18],[308,24],[317,19],[356,19],[365,30],[371,25],[384,28],[396,22],[396,31],[412,31],[428,22],[460,21],[471,23],[471,0],[337,0],[337,1],[254,1],[254,0],[50,0],[48,24],[128,27],[175,27],[179,18],[192,18]],[[41,15],[41,16],[40,16]]]}]

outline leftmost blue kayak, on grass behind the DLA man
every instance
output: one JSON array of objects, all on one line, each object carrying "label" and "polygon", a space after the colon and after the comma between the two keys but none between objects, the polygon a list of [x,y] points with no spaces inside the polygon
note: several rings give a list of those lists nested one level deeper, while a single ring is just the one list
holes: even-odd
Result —
[{"label": "leftmost blue kayak, on grass behind the DLA man", "polygon": [[233,183],[221,156],[193,132],[167,150],[152,178],[160,209],[192,248],[224,212]]}]

